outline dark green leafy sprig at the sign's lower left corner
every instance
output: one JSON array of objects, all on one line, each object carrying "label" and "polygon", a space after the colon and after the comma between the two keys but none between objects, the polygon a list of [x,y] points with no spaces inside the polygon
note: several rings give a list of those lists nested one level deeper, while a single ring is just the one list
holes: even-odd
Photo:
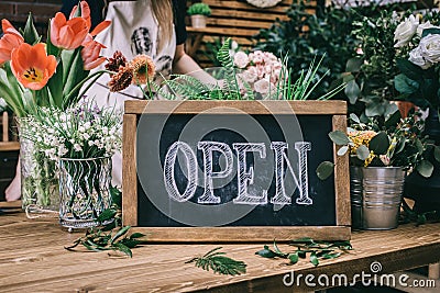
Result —
[{"label": "dark green leafy sprig at the sign's lower left corner", "polygon": [[[121,221],[121,201],[122,193],[117,188],[110,188],[110,195],[112,198],[112,206],[105,210],[99,216],[99,223],[109,223],[99,228],[89,228],[86,235],[76,239],[74,245],[65,247],[69,251],[75,251],[78,245],[82,245],[85,248],[91,251],[120,251],[129,257],[132,257],[132,248],[135,248],[146,243],[146,239],[142,233],[133,233],[128,235],[130,226],[122,226]],[[113,221],[111,221],[113,219]]]}]

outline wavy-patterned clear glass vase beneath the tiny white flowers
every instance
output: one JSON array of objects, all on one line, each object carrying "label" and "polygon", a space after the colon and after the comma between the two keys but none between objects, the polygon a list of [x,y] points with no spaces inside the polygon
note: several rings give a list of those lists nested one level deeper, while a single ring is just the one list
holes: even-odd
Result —
[{"label": "wavy-patterned clear glass vase beneath the tiny white flowers", "polygon": [[100,224],[98,216],[111,206],[111,158],[59,160],[59,223],[68,228]]}]

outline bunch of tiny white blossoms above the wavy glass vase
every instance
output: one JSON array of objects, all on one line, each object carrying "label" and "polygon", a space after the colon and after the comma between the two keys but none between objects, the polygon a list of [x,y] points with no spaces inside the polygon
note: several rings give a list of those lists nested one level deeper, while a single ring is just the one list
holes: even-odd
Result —
[{"label": "bunch of tiny white blossoms above the wavy glass vase", "polygon": [[52,160],[107,157],[121,149],[122,115],[82,101],[59,111],[43,108],[26,135]]}]

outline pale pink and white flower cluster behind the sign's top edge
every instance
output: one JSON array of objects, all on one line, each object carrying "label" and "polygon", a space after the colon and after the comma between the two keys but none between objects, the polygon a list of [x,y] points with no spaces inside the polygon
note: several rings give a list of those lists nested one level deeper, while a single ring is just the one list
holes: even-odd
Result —
[{"label": "pale pink and white flower cluster behind the sign's top edge", "polygon": [[283,72],[283,63],[274,54],[262,50],[250,54],[238,52],[233,56],[233,61],[234,66],[243,69],[238,74],[242,93],[245,91],[243,82],[262,97],[266,97],[277,88]]}]

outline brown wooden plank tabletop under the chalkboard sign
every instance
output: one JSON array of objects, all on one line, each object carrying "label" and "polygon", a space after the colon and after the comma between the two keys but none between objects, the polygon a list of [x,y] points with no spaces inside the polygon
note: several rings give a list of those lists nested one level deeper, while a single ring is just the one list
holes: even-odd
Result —
[{"label": "brown wooden plank tabletop under the chalkboard sign", "polygon": [[[28,219],[11,211],[4,209],[0,215],[1,292],[292,292],[283,277],[293,270],[295,275],[345,273],[351,278],[361,271],[371,273],[373,261],[382,263],[383,273],[440,261],[440,224],[404,225],[386,232],[355,232],[353,251],[316,268],[307,260],[285,266],[285,260],[255,256],[262,244],[222,245],[228,256],[248,263],[248,273],[227,277],[185,263],[216,244],[152,244],[133,249],[132,259],[70,252],[64,246],[84,233],[69,234],[55,218]],[[302,284],[302,290],[318,288]]]}]

